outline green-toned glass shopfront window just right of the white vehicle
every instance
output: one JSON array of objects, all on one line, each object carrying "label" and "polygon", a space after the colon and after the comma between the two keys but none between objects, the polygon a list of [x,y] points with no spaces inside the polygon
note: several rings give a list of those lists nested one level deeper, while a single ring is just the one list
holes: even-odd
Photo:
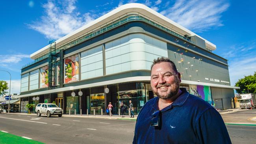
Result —
[{"label": "green-toned glass shopfront window just right of the white vehicle", "polygon": [[66,114],[74,114],[76,110],[76,114],[79,113],[79,96],[68,96],[66,97],[67,105],[66,105]]}]

